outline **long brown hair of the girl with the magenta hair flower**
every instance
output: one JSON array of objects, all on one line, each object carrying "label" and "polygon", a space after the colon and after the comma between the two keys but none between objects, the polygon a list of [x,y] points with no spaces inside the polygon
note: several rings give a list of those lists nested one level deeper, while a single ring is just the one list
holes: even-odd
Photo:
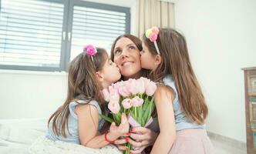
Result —
[{"label": "long brown hair of the girl with the magenta hair flower", "polygon": [[57,136],[61,134],[66,137],[70,102],[77,102],[77,100],[83,99],[88,103],[91,100],[96,100],[97,102],[101,102],[100,108],[103,109],[103,112],[106,111],[106,107],[103,105],[104,101],[100,94],[102,87],[96,79],[96,72],[103,69],[108,55],[105,49],[96,48],[96,50],[97,53],[93,56],[93,60],[89,55],[86,55],[86,52],[82,52],[69,65],[66,101],[48,120],[48,126],[49,122],[52,121],[52,130]]}]

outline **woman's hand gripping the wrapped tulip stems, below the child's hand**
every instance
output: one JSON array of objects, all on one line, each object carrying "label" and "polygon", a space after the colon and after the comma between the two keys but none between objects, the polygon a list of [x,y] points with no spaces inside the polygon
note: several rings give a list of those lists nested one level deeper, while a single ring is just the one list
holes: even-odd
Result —
[{"label": "woman's hand gripping the wrapped tulip stems, below the child's hand", "polygon": [[133,150],[130,152],[136,154],[143,151],[147,146],[153,145],[158,136],[157,132],[153,132],[151,129],[145,127],[136,127],[131,130],[130,138],[128,142],[133,146]]}]

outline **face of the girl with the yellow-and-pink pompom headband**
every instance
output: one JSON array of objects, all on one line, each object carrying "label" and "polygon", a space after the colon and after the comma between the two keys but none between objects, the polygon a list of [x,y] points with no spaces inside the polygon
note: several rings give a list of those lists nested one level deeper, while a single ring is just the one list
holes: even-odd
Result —
[{"label": "face of the girl with the yellow-and-pink pompom headband", "polygon": [[143,50],[140,52],[140,63],[143,69],[156,69],[156,55],[151,54],[144,42],[142,42]]}]

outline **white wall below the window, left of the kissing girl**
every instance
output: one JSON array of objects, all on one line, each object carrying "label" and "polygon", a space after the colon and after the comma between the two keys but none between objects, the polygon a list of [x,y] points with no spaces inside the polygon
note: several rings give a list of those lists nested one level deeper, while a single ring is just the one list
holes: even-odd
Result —
[{"label": "white wall below the window, left of the kissing girl", "polygon": [[48,118],[66,99],[63,72],[0,70],[0,119]]}]

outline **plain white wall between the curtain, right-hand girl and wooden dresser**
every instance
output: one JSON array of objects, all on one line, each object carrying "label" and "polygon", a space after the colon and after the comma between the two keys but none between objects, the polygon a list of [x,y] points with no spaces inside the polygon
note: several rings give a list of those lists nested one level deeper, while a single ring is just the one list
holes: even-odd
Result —
[{"label": "plain white wall between the curtain, right-hand girl and wooden dresser", "polygon": [[245,142],[241,68],[256,66],[256,1],[177,0],[175,25],[209,105],[207,130]]}]

